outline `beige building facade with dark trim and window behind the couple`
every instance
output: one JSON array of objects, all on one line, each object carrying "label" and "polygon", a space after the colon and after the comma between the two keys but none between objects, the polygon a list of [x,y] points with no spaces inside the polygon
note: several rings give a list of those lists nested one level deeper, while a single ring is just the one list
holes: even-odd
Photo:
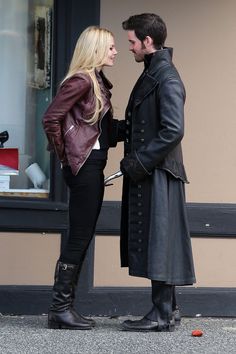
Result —
[{"label": "beige building facade with dark trim and window behind the couple", "polygon": [[[135,13],[159,12],[166,19],[169,42],[176,48],[174,58],[187,86],[184,154],[190,171],[187,210],[197,284],[178,288],[178,299],[187,316],[236,316],[236,166],[232,163],[236,72],[230,54],[228,58],[219,53],[215,36],[219,33],[227,39],[236,53],[231,15],[236,5],[230,0],[227,4],[180,0],[177,19],[169,0],[149,0],[145,6],[134,0],[125,4],[10,0],[0,5],[0,133],[9,133],[0,149],[19,152],[19,173],[10,175],[9,186],[0,188],[0,313],[47,312],[55,262],[67,237],[68,193],[55,155],[46,150],[42,115],[66,73],[79,34],[89,25],[100,24],[116,38],[117,63],[107,74],[114,84],[115,116],[122,119],[141,69],[130,60],[121,29],[122,20],[135,9]],[[202,17],[206,27],[199,24]],[[219,19],[225,23],[223,34]],[[121,156],[122,146],[111,152],[107,175],[118,169]],[[40,181],[38,175],[34,179],[26,173],[33,164],[39,167]],[[131,279],[119,268],[120,195],[121,181],[107,187],[96,237],[82,270],[76,305],[85,314],[141,315],[149,309],[149,283]]]}]

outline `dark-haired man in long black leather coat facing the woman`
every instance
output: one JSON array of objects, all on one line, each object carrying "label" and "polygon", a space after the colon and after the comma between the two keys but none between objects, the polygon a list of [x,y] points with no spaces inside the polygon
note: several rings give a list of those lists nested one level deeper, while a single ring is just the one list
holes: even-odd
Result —
[{"label": "dark-haired man in long black leather coat facing the woman", "polygon": [[180,321],[175,286],[195,282],[185,208],[181,140],[185,89],[164,47],[164,21],[155,14],[122,23],[129,50],[144,62],[126,109],[121,217],[121,266],[151,280],[151,311],[122,324],[129,331],[173,331]]}]

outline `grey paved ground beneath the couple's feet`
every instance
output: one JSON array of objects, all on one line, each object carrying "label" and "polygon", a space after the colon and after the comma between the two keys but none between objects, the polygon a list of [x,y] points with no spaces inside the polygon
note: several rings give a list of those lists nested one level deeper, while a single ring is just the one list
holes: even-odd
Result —
[{"label": "grey paved ground beneath the couple's feet", "polygon": [[[47,329],[46,316],[1,316],[1,354],[235,354],[236,318],[183,318],[172,333],[123,332],[132,317],[96,317],[90,331]],[[202,337],[192,337],[194,329]]]}]

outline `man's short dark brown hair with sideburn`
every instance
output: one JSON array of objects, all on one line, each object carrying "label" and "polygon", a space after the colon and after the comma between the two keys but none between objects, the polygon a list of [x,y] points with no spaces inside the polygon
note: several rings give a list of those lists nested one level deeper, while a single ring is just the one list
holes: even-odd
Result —
[{"label": "man's short dark brown hair with sideburn", "polygon": [[136,37],[143,41],[147,36],[151,37],[156,49],[164,46],[167,29],[162,18],[156,14],[144,13],[130,16],[122,22],[124,30],[134,31]]}]

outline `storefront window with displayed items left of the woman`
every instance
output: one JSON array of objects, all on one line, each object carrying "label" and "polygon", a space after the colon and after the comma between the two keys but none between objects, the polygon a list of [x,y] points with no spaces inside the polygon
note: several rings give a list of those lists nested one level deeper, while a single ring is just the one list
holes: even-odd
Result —
[{"label": "storefront window with displayed items left of the woman", "polygon": [[[0,0],[0,195],[47,198],[53,0]],[[18,160],[18,161],[17,161]]]}]

